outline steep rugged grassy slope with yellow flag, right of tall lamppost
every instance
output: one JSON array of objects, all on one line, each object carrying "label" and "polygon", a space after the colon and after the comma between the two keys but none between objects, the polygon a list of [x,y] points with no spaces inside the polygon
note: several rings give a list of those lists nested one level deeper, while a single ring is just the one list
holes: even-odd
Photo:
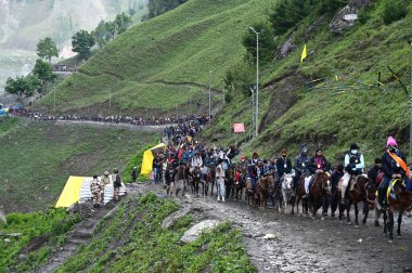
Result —
[{"label": "steep rugged grassy slope with yellow flag, right of tall lamppost", "polygon": [[[287,79],[286,75],[292,73],[292,79],[298,76],[306,81],[325,77],[327,82],[324,84],[330,88],[310,90],[310,84],[296,83],[289,94],[279,93],[289,83],[278,80],[263,89],[260,94],[260,118],[273,108],[283,107],[279,103],[283,99],[280,95],[295,95],[298,100],[284,115],[269,115],[270,125],[263,128],[259,139],[244,147],[246,155],[257,151],[266,157],[272,157],[278,156],[282,147],[288,147],[295,156],[300,145],[307,143],[311,151],[318,146],[325,148],[326,156],[333,162],[338,162],[350,143],[357,142],[365,153],[365,160],[372,165],[374,158],[381,156],[389,134],[395,135],[407,152],[409,95],[387,66],[404,83],[410,82],[412,47],[403,37],[412,35],[412,14],[385,25],[382,11],[383,1],[376,1],[368,10],[370,18],[365,24],[357,23],[340,36],[330,34],[330,20],[326,20],[307,42],[309,56],[304,64],[299,63],[300,48],[288,57],[275,61],[275,64],[261,67],[262,84],[269,84],[274,78]],[[304,21],[296,32],[302,34],[312,22],[309,18]],[[382,88],[376,88],[378,72],[382,73]],[[335,80],[336,75],[339,81]],[[342,89],[336,90],[336,84]],[[270,104],[266,100],[271,100]],[[206,130],[205,136],[223,130],[230,136],[223,143],[233,142],[233,133],[229,134],[230,117],[235,116],[237,122],[250,122],[249,114],[237,115],[239,108],[249,112],[249,101],[237,99],[226,107],[215,126]],[[240,139],[242,135],[237,136]]]}]

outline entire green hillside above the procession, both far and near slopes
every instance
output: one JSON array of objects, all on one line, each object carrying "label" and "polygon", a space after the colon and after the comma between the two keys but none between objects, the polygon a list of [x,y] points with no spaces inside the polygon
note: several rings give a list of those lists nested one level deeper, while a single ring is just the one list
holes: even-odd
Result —
[{"label": "entire green hillside above the procession, both far and near slopes", "polygon": [[[203,110],[207,107],[208,72],[213,70],[217,99],[226,72],[243,62],[242,36],[248,26],[265,21],[275,2],[192,0],[134,27],[60,84],[59,109],[81,112],[89,107],[104,112],[112,93],[112,102],[117,105],[112,112],[116,113],[121,108],[172,114],[173,105],[191,112],[186,107],[190,99],[195,101],[196,110]],[[256,150],[274,156],[287,146],[295,154],[308,143],[311,151],[326,148],[326,156],[336,162],[351,142],[358,142],[366,153],[366,161],[372,162],[388,134],[405,148],[409,95],[387,66],[409,83],[412,48],[404,38],[412,36],[412,13],[386,25],[382,16],[385,2],[374,1],[362,11],[361,21],[340,35],[330,32],[334,14],[325,14],[307,36],[309,56],[304,64],[299,62],[304,34],[320,15],[309,14],[276,38],[282,43],[295,32],[298,49],[260,67],[260,138],[248,143],[245,153]],[[407,1],[402,8],[410,10],[410,5]],[[249,73],[254,69],[250,67]],[[384,86],[377,88],[379,72]],[[308,83],[318,79],[324,82]],[[321,86],[313,89],[318,83]],[[183,87],[190,86],[205,89],[188,95]],[[151,94],[153,99],[149,99]],[[246,135],[235,138],[231,123],[245,122],[249,135],[249,98],[241,91],[233,95],[233,102],[224,105],[204,133],[205,139],[223,133],[219,141],[222,145],[248,140]],[[52,102],[48,96],[39,106],[50,107]],[[179,102],[181,107],[176,106]]]}]

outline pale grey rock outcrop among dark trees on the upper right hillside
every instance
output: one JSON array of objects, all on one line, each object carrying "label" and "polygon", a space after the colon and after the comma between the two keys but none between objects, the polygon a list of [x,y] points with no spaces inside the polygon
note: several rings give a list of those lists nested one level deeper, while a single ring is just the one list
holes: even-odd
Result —
[{"label": "pale grey rock outcrop among dark trees on the upper right hillside", "polygon": [[372,3],[373,0],[352,0],[333,17],[329,29],[333,34],[342,34],[355,25],[359,11]]}]

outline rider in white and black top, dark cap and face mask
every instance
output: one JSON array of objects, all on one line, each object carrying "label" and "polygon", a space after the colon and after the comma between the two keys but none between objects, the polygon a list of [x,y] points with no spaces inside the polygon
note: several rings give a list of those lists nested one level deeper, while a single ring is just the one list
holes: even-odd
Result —
[{"label": "rider in white and black top, dark cap and face mask", "polygon": [[349,152],[345,155],[345,174],[343,178],[340,203],[346,204],[346,188],[352,176],[362,174],[364,168],[364,159],[359,146],[356,143],[350,144]]}]

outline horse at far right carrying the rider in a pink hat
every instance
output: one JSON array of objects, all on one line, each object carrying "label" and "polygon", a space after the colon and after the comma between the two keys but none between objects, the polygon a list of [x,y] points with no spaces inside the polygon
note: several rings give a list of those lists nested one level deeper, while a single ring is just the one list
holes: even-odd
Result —
[{"label": "horse at far right carrying the rider in a pink hat", "polygon": [[[412,193],[405,191],[405,186],[401,179],[396,179],[394,182],[390,182],[389,186],[392,186],[392,194],[389,194],[387,202],[389,207],[384,212],[384,235],[387,235],[389,232],[388,242],[394,243],[394,212],[399,211],[398,217],[398,230],[397,237],[401,238],[400,225],[402,223],[403,211],[409,209],[412,205]],[[386,198],[386,196],[385,196]],[[387,216],[387,213],[389,216]],[[387,218],[389,218],[389,223],[387,223]]]}]

